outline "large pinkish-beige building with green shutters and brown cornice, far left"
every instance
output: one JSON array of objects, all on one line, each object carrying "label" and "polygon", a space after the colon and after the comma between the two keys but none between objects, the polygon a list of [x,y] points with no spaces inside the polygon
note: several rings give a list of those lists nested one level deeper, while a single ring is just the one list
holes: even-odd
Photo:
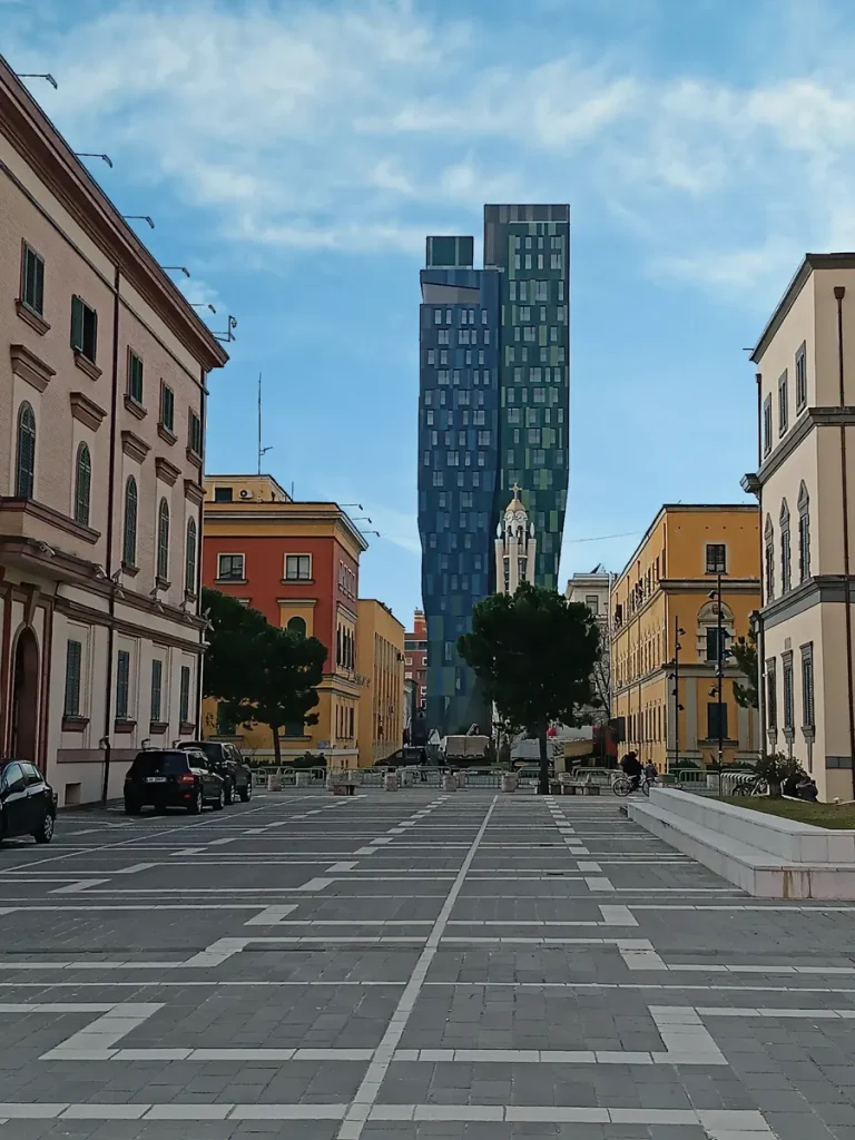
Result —
[{"label": "large pinkish-beige building with green shutters and brown cornice, far left", "polygon": [[0,755],[59,803],[193,736],[227,356],[0,57]]}]

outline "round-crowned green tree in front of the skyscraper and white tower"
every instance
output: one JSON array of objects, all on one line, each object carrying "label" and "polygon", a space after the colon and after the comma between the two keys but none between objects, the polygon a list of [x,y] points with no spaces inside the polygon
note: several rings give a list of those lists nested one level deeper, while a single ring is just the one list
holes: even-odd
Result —
[{"label": "round-crowned green tree in front of the skyscraper and white tower", "polygon": [[506,728],[539,741],[539,791],[548,793],[549,724],[578,724],[583,708],[594,703],[600,629],[591,610],[523,583],[513,596],[494,594],[479,602],[472,632],[459,638],[457,649]]}]

